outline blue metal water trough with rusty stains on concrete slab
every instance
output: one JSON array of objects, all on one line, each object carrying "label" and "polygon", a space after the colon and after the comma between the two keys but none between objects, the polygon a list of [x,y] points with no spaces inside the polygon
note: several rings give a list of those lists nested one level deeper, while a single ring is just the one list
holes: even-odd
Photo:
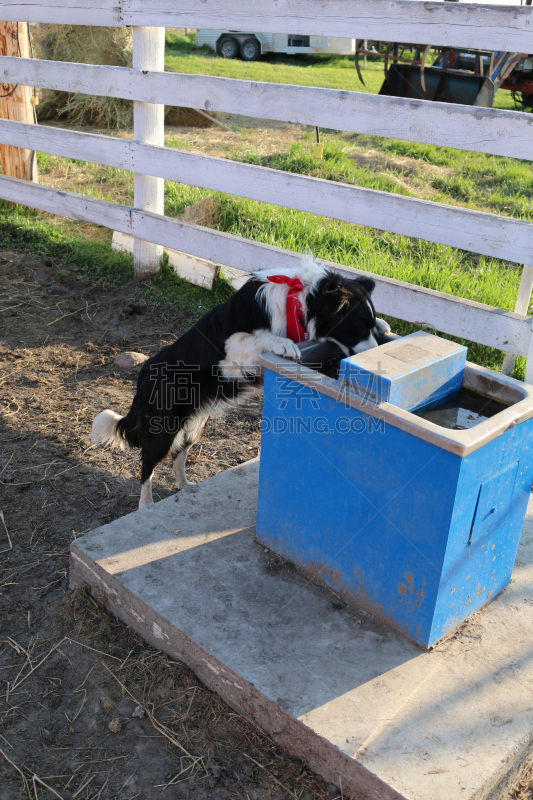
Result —
[{"label": "blue metal water trough with rusty stains on concrete slab", "polygon": [[425,648],[509,583],[533,482],[533,387],[465,358],[420,332],[338,380],[262,359],[258,540]]}]

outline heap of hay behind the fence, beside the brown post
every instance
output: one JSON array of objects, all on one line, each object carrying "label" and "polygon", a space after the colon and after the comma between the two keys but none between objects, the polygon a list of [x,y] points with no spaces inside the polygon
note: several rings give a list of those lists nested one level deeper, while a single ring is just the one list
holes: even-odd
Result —
[{"label": "heap of hay behind the fence, beside the brown post", "polygon": [[[131,67],[133,51],[131,28],[49,24],[32,27],[33,46],[37,58]],[[167,67],[165,69],[167,70]],[[168,70],[175,72],[172,68]],[[129,128],[133,125],[133,103],[131,100],[114,97],[44,89],[41,91],[37,115],[41,120],[61,119],[71,125]],[[165,123],[199,128],[210,127],[213,124],[192,108],[173,106],[165,108]]]}]

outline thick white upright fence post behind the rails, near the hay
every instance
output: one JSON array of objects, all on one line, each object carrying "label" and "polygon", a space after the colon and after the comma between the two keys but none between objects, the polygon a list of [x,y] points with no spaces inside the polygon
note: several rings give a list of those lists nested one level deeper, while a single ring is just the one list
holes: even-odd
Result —
[{"label": "thick white upright fence post behind the rails, near the hay", "polygon": [[[133,67],[150,72],[165,69],[165,29],[133,28]],[[164,144],[165,107],[155,103],[133,103],[133,136],[144,144]],[[135,169],[135,165],[134,165]],[[163,214],[163,178],[151,175],[134,177],[134,205],[142,211]],[[135,239],[133,249],[133,274],[135,280],[144,280],[159,271],[163,248],[157,244]]]}]

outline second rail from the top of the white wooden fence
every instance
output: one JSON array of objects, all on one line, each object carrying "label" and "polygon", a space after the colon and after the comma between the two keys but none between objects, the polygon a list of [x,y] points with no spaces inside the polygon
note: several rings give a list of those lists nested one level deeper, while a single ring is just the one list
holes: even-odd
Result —
[{"label": "second rail from the top of the white wooden fence", "polygon": [[533,160],[533,114],[126,67],[0,58],[4,83],[226,111]]}]

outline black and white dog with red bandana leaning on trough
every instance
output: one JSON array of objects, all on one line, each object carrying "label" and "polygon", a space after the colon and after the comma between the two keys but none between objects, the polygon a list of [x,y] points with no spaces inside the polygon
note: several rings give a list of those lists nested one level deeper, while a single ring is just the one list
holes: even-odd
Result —
[{"label": "black and white dog with red bandana leaning on trough", "polygon": [[176,486],[191,485],[185,462],[210,416],[261,386],[258,359],[299,359],[295,342],[331,339],[346,355],[377,345],[388,330],[376,319],[371,278],[346,278],[311,258],[276,275],[255,273],[226,303],[209,311],[174,344],[146,361],[125,417],[102,411],[92,441],[141,448],[139,508],[152,503],[152,474],[172,454]]}]

